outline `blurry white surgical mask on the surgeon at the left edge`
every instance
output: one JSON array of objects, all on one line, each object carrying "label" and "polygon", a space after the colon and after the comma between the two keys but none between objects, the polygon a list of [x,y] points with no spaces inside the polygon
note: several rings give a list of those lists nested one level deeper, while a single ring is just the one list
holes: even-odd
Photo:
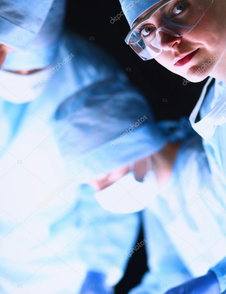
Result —
[{"label": "blurry white surgical mask on the surgeon at the left edge", "polygon": [[17,104],[36,99],[46,84],[38,81],[49,72],[50,67],[28,75],[0,70],[0,98]]}]

